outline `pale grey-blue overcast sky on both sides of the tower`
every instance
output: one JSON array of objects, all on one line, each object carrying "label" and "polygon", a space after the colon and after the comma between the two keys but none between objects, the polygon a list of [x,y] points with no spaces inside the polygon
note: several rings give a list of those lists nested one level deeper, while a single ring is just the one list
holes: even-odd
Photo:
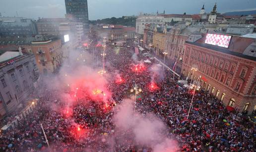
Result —
[{"label": "pale grey-blue overcast sky on both sides of the tower", "polygon": [[[89,19],[121,17],[144,13],[198,13],[205,5],[210,12],[217,2],[218,12],[256,9],[256,0],[88,0]],[[64,17],[64,0],[0,0],[2,16]]]}]

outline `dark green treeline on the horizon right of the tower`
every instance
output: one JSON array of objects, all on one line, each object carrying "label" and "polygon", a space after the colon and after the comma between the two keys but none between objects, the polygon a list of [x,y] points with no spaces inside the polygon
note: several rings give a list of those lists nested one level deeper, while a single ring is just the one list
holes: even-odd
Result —
[{"label": "dark green treeline on the horizon right of the tower", "polygon": [[90,20],[90,24],[96,25],[96,24],[114,24],[114,25],[124,25],[124,26],[131,26],[135,27],[136,25],[136,17],[129,17],[126,18],[123,17],[111,17],[111,18],[104,18],[104,19],[98,19],[98,20]]}]

